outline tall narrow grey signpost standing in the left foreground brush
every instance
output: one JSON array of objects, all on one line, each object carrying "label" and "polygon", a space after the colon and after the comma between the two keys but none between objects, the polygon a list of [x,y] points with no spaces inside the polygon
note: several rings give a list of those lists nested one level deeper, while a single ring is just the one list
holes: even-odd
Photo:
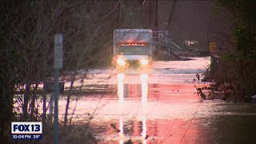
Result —
[{"label": "tall narrow grey signpost standing in the left foreground brush", "polygon": [[63,66],[63,35],[54,35],[54,144],[58,144],[58,73]]}]

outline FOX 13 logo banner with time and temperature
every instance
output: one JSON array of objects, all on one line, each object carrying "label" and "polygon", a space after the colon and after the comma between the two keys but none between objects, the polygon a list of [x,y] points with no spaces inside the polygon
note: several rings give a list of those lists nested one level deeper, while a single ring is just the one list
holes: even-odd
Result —
[{"label": "FOX 13 logo banner with time and temperature", "polygon": [[42,122],[11,122],[12,139],[42,139]]}]

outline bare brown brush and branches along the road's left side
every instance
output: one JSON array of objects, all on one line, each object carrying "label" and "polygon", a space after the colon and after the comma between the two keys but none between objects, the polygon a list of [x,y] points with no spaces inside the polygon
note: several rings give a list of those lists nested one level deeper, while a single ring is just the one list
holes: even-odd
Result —
[{"label": "bare brown brush and branches along the road's left side", "polygon": [[[42,84],[53,83],[54,34],[64,37],[62,78],[73,90],[77,70],[87,70],[110,57],[113,30],[118,26],[118,1],[1,1],[0,2],[0,142],[12,143],[10,122],[43,122],[46,143],[53,142],[52,94]],[[82,74],[85,79],[86,74]],[[64,87],[63,87],[64,88]],[[97,141],[90,126],[76,130],[70,122],[70,97],[62,122],[62,142]],[[40,106],[38,102],[42,102]],[[41,110],[40,110],[41,109]],[[63,131],[65,129],[65,131]],[[68,130],[68,131],[67,131]],[[66,137],[74,131],[80,138]],[[22,141],[25,142],[26,141]]]}]

